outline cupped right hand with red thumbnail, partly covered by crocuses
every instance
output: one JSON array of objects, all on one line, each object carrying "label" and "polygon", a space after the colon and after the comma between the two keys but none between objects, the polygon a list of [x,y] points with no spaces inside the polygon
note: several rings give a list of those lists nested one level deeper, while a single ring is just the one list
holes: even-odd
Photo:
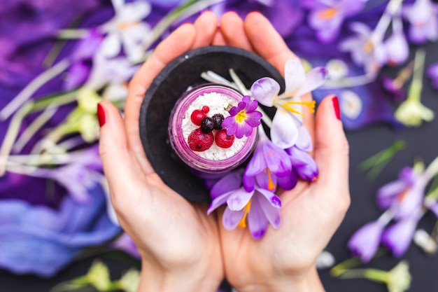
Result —
[{"label": "cupped right hand with red thumbnail, partly covered by crocuses", "polygon": [[[297,57],[260,13],[249,13],[244,21],[236,13],[226,13],[220,31],[225,43],[257,53],[281,74],[285,62]],[[302,97],[311,98],[310,94]],[[335,112],[336,102],[336,97],[326,97],[315,118],[309,111],[304,114],[319,177],[278,192],[280,228],[269,227],[262,239],[255,240],[246,229],[230,231],[220,224],[225,275],[237,291],[324,291],[315,261],[350,204],[348,142]]]}]

